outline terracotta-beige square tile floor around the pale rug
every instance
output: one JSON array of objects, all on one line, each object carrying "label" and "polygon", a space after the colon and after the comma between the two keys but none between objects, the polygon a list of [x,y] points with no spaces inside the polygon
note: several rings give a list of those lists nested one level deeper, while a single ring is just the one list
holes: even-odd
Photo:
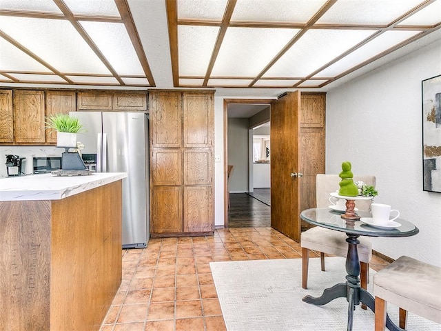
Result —
[{"label": "terracotta-beige square tile floor around the pale rug", "polygon": [[[123,281],[101,331],[225,330],[209,262],[300,257],[300,244],[272,228],[150,239],[145,249],[123,250]],[[387,264],[373,257],[370,267]]]}]

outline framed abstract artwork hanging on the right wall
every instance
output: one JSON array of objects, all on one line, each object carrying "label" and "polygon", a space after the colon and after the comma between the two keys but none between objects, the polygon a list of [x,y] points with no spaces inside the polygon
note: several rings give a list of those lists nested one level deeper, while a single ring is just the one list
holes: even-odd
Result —
[{"label": "framed abstract artwork hanging on the right wall", "polygon": [[441,74],[421,81],[423,191],[441,193]]}]

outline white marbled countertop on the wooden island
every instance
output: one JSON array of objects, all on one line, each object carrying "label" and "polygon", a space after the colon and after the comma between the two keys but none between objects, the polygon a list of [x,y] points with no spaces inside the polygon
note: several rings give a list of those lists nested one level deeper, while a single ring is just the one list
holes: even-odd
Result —
[{"label": "white marbled countertop on the wooden island", "polygon": [[0,201],[59,200],[127,177],[125,172],[95,172],[82,176],[29,176],[0,179]]}]

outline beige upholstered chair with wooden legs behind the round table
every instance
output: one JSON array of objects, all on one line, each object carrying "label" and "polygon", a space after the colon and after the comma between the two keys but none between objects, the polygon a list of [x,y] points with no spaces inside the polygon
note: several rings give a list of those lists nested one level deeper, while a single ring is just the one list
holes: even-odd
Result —
[{"label": "beige upholstered chair with wooden legs behind the round table", "polygon": [[[316,177],[316,206],[326,208],[331,203],[329,197],[331,192],[336,192],[340,187],[340,177],[337,174],[317,174]],[[353,181],[364,181],[367,185],[376,184],[375,176],[354,176]],[[359,210],[369,210],[370,200],[356,201],[356,208]],[[300,246],[302,247],[302,288],[308,285],[308,266],[309,250],[320,252],[321,270],[325,271],[325,254],[336,255],[338,257],[347,256],[347,235],[345,232],[329,230],[316,226],[300,234]],[[358,258],[360,259],[360,285],[367,289],[369,261],[372,258],[372,244],[369,237],[358,238]],[[363,305],[365,308],[365,305]]]}]

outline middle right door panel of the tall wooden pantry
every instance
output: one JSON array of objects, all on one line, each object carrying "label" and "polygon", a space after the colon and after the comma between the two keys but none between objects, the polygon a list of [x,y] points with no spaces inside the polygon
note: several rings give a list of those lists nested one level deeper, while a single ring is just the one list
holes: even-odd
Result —
[{"label": "middle right door panel of the tall wooden pantry", "polygon": [[184,185],[212,185],[212,149],[185,148]]}]

